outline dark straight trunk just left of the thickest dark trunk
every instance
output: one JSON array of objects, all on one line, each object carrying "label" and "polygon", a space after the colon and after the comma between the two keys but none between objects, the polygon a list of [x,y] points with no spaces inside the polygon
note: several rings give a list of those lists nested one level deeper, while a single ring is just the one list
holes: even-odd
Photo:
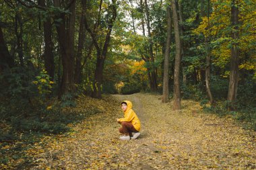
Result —
[{"label": "dark straight trunk just left of the thickest dark trunk", "polygon": [[[42,7],[46,7],[45,0],[39,0],[38,4]],[[54,79],[55,73],[55,63],[54,63],[54,54],[53,54],[53,40],[52,40],[52,24],[51,17],[47,16],[46,21],[43,24],[44,26],[44,65],[47,73]]]}]

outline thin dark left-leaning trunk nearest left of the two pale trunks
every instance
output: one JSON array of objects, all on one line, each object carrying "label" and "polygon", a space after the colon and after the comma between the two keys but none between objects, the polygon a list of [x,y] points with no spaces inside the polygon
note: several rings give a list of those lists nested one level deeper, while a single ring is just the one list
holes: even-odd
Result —
[{"label": "thin dark left-leaning trunk nearest left of the two pale trunks", "polygon": [[150,29],[150,12],[148,10],[148,3],[145,0],[145,10],[146,10],[146,22],[148,27],[148,37],[150,39],[150,62],[151,62],[151,77],[152,77],[152,91],[157,90],[157,79],[156,79],[156,69],[154,68],[154,55],[153,55],[153,44],[152,44],[152,37],[151,37],[151,29]]}]

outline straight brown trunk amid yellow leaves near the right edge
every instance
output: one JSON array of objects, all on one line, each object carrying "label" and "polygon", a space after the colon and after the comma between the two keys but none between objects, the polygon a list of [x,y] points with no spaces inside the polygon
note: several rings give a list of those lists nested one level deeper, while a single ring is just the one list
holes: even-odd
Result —
[{"label": "straight brown trunk amid yellow leaves near the right edge", "polygon": [[231,2],[231,26],[232,26],[232,48],[231,48],[231,65],[230,65],[230,79],[228,87],[228,101],[231,102],[230,110],[235,110],[235,102],[238,87],[238,64],[239,64],[239,49],[237,40],[239,38],[238,30],[238,1]]}]

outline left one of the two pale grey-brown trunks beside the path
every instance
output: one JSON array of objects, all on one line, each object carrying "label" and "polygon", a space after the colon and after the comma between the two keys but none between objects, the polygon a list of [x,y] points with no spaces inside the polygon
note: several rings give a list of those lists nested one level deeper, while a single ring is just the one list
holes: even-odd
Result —
[{"label": "left one of the two pale grey-brown trunks beside the path", "polygon": [[169,101],[169,57],[170,57],[170,41],[172,34],[172,16],[171,16],[171,6],[168,5],[167,9],[167,38],[166,38],[166,48],[164,52],[164,81],[162,90],[162,102],[167,103]]}]

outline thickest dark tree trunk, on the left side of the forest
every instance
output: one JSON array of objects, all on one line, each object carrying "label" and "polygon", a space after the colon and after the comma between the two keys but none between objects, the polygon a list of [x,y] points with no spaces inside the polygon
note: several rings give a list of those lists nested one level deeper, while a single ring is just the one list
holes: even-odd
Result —
[{"label": "thickest dark tree trunk, on the left side of the forest", "polygon": [[[53,4],[61,9],[61,1],[54,0]],[[69,14],[65,10],[60,10],[55,16],[58,42],[61,51],[61,61],[63,65],[63,75],[61,80],[61,94],[72,92],[74,86],[74,40],[75,40],[75,4],[76,0],[70,0],[64,9],[69,9]],[[69,17],[66,17],[66,16]]]}]

